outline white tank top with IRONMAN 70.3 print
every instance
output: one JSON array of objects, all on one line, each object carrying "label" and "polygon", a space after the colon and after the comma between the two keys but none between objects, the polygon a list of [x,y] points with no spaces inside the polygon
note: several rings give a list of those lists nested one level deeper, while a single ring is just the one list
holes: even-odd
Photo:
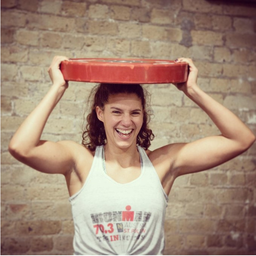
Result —
[{"label": "white tank top with IRONMAN 70.3 print", "polygon": [[84,186],[70,197],[74,255],[162,255],[168,196],[146,152],[141,174],[126,184],[107,175],[104,146],[96,148]]}]

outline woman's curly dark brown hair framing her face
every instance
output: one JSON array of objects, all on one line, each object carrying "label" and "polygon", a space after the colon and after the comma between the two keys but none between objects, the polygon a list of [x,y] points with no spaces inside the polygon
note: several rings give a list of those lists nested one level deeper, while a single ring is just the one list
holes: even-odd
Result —
[{"label": "woman's curly dark brown hair framing her face", "polygon": [[142,128],[137,136],[137,144],[145,149],[151,145],[151,140],[154,139],[152,130],[148,128],[150,121],[151,110],[146,105],[146,98],[149,98],[149,93],[142,88],[140,84],[99,84],[91,91],[89,99],[93,97],[90,114],[86,120],[87,125],[82,134],[82,145],[94,151],[96,146],[105,145],[107,137],[103,122],[101,122],[96,114],[96,107],[99,106],[104,110],[104,105],[108,102],[108,97],[117,93],[135,93],[142,102],[143,108],[143,123]]}]

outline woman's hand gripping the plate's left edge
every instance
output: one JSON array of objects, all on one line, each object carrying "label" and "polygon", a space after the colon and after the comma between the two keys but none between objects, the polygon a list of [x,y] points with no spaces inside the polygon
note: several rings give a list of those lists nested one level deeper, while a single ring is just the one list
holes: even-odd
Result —
[{"label": "woman's hand gripping the plate's left edge", "polygon": [[65,89],[69,86],[68,81],[65,81],[60,70],[60,64],[62,61],[69,61],[70,59],[65,56],[55,56],[47,70],[52,80],[53,85],[58,87],[64,87]]}]

